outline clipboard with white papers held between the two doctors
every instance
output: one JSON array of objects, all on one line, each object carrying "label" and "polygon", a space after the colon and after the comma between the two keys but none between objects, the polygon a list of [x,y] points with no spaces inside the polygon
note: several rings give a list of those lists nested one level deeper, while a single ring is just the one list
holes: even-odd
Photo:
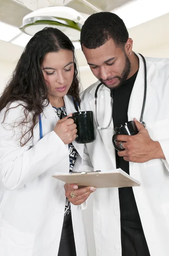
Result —
[{"label": "clipboard with white papers held between the two doctors", "polygon": [[72,172],[70,174],[56,173],[52,177],[68,184],[76,184],[79,188],[93,186],[96,188],[140,186],[141,183],[123,170],[115,169],[109,172],[100,170],[90,172]]}]

